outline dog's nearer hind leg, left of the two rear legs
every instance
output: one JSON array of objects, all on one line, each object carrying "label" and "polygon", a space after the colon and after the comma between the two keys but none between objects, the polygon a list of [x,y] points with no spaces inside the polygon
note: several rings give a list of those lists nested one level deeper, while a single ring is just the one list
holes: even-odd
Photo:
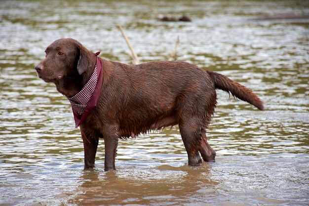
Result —
[{"label": "dog's nearer hind leg, left of the two rear legs", "polygon": [[199,156],[198,150],[200,145],[200,136],[198,127],[196,124],[192,124],[190,121],[179,124],[181,138],[184,142],[187,154],[188,165],[197,166],[202,164],[202,160]]}]

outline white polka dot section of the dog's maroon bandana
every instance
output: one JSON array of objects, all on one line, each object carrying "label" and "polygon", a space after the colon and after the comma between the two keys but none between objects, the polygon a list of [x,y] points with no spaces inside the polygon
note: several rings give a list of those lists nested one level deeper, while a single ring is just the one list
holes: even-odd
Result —
[{"label": "white polka dot section of the dog's maroon bandana", "polygon": [[85,108],[90,100],[91,95],[94,92],[94,89],[97,85],[97,66],[94,68],[93,73],[84,85],[84,87],[73,97],[67,97],[71,102],[72,109],[77,112],[78,115],[82,115],[85,111]]}]

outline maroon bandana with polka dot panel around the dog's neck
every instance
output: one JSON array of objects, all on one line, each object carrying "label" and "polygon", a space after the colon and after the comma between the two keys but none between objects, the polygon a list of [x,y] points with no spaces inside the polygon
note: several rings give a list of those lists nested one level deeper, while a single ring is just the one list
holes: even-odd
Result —
[{"label": "maroon bandana with polka dot panel around the dog's neck", "polygon": [[[100,52],[95,53],[99,55]],[[102,63],[97,57],[96,66],[84,87],[73,97],[67,97],[71,103],[76,128],[86,119],[98,103],[103,84]]]}]

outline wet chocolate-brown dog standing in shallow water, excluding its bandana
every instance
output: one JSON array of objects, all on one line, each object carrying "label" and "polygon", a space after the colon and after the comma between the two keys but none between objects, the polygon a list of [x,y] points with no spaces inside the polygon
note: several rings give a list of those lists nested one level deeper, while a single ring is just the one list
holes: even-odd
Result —
[{"label": "wet chocolate-brown dog standing in shallow water, excluding its bandana", "polygon": [[156,61],[130,66],[96,57],[73,39],[54,41],[45,52],[46,58],[36,66],[39,78],[55,83],[69,98],[82,90],[98,61],[102,63],[99,98],[80,124],[86,167],[94,166],[99,138],[105,143],[105,170],[111,170],[115,169],[118,138],[176,124],[189,165],[201,164],[199,153],[205,162],[213,162],[216,153],[205,132],[216,107],[216,89],[264,109],[250,89],[190,63]]}]

